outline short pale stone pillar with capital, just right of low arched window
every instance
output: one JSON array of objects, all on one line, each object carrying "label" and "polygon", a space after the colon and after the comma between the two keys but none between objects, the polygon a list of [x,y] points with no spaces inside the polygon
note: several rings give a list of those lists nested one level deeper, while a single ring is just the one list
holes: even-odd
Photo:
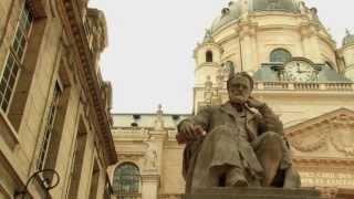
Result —
[{"label": "short pale stone pillar with capital, just right of low arched window", "polygon": [[159,175],[144,174],[142,175],[142,199],[158,198]]}]

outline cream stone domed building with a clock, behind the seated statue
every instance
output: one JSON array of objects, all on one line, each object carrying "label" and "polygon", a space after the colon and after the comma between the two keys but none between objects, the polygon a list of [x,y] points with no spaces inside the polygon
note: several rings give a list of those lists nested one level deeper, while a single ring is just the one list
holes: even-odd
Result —
[{"label": "cream stone domed building with a clock, behind the seated statue", "polygon": [[[254,78],[253,96],[281,117],[302,187],[354,197],[354,35],[342,46],[298,0],[239,0],[221,9],[194,51],[192,113],[228,100],[230,73]],[[176,125],[189,115],[116,114],[113,137],[121,163],[111,168],[116,195],[134,185],[142,198],[179,198],[183,149]],[[122,169],[131,166],[135,182]],[[134,168],[134,169],[133,169]],[[125,188],[124,188],[125,187]],[[133,189],[132,189],[133,190]]]}]

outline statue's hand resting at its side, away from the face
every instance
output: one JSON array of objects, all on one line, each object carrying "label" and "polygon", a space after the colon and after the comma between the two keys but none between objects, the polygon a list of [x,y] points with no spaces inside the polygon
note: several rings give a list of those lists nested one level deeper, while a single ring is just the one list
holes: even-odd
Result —
[{"label": "statue's hand resting at its side, away from the face", "polygon": [[186,143],[195,140],[202,135],[205,135],[205,130],[201,126],[195,125],[190,122],[184,122],[179,127],[179,132],[176,138],[178,143]]}]

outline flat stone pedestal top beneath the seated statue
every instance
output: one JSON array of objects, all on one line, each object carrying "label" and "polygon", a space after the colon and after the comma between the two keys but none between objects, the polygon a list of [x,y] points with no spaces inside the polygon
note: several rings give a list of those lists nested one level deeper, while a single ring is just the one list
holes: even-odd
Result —
[{"label": "flat stone pedestal top beneath the seated statue", "polygon": [[315,189],[211,188],[185,195],[183,199],[325,199]]}]

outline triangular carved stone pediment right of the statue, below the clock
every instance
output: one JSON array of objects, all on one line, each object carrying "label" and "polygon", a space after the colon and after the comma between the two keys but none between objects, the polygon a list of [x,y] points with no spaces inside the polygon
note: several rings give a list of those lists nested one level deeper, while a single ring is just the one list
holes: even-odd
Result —
[{"label": "triangular carved stone pediment right of the statue, below the clock", "polygon": [[295,156],[354,158],[354,111],[340,108],[284,129]]}]

